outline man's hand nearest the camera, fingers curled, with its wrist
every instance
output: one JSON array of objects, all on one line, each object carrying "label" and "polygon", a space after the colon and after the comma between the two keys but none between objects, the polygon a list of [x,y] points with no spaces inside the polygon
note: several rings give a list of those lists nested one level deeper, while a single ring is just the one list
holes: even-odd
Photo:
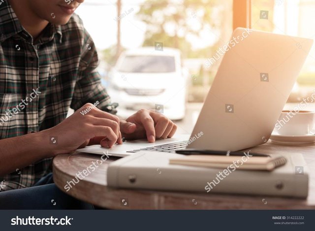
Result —
[{"label": "man's hand nearest the camera, fingers curled, with its wrist", "polygon": [[[60,124],[42,132],[44,137],[49,137],[47,145],[54,155],[69,153],[87,145],[112,147],[116,142],[123,143],[119,118],[99,110],[92,103],[85,104]],[[51,143],[51,138],[56,140],[55,145]]]}]

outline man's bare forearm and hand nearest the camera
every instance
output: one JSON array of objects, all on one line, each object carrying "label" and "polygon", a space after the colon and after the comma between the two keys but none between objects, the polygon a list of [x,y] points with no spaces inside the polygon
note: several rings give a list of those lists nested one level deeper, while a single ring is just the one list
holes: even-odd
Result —
[{"label": "man's bare forearm and hand nearest the camera", "polygon": [[[82,114],[84,110],[89,110],[89,113]],[[51,137],[58,142],[51,143]],[[119,118],[87,103],[53,128],[1,139],[0,176],[88,144],[100,143],[104,147],[112,147],[116,142],[122,143]]]}]

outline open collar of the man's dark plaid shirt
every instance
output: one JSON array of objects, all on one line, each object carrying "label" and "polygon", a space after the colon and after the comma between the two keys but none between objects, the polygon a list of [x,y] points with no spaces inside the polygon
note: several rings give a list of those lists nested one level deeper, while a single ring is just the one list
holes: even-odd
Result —
[{"label": "open collar of the man's dark plaid shirt", "polygon": [[[0,19],[0,42],[18,33],[26,40],[32,40],[32,36],[23,28],[7,0],[3,2],[0,0]],[[48,27],[50,27],[49,33],[42,34],[40,40],[50,41],[57,33],[59,34],[59,42],[61,43],[63,35],[61,26],[49,24]],[[46,35],[46,37],[43,37],[43,35]]]}]

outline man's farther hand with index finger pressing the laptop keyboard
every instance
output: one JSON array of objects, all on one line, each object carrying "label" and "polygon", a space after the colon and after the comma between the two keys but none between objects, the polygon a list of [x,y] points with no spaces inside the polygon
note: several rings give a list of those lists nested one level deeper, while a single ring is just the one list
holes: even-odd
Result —
[{"label": "man's farther hand with index finger pressing the laptop keyboard", "polygon": [[172,137],[177,126],[163,114],[141,109],[120,122],[120,131],[126,139],[146,138],[150,143],[156,138]]}]

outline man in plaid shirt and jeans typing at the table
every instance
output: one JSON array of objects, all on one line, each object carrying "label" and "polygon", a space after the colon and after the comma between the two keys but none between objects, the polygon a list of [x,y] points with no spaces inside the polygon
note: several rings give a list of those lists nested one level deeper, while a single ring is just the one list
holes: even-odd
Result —
[{"label": "man in plaid shirt and jeans typing at the table", "polygon": [[[54,156],[92,144],[112,147],[122,137],[154,142],[176,131],[154,111],[126,121],[114,115],[95,70],[93,40],[73,14],[83,1],[0,0],[2,209],[92,208],[51,184]],[[76,112],[66,118],[69,108]]]}]

